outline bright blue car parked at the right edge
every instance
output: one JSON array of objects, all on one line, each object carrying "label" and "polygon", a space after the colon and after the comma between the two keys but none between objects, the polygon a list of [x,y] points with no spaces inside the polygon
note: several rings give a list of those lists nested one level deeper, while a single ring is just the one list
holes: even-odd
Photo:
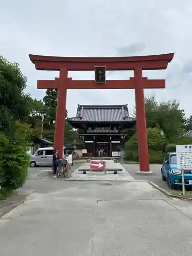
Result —
[{"label": "bright blue car parked at the right edge", "polygon": [[[169,188],[177,188],[182,185],[181,169],[177,168],[177,155],[176,152],[169,152],[163,161],[161,167],[162,180],[167,181]],[[185,186],[192,187],[192,169],[184,169]]]}]

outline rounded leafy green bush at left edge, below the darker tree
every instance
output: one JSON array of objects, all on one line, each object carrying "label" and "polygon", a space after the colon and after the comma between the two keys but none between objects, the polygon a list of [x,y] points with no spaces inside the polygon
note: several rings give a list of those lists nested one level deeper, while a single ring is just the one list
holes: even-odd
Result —
[{"label": "rounded leafy green bush at left edge, below the darker tree", "polygon": [[0,184],[16,189],[27,179],[30,157],[22,139],[10,139],[0,134]]}]

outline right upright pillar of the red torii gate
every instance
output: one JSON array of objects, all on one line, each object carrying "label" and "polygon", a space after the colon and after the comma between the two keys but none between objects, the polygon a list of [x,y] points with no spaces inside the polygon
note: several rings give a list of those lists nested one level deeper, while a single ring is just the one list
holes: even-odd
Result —
[{"label": "right upright pillar of the red torii gate", "polygon": [[147,131],[144,105],[144,90],[142,87],[142,70],[138,68],[134,71],[137,87],[135,89],[135,105],[137,117],[137,140],[139,153],[139,166],[141,172],[149,172],[150,164],[148,157]]}]

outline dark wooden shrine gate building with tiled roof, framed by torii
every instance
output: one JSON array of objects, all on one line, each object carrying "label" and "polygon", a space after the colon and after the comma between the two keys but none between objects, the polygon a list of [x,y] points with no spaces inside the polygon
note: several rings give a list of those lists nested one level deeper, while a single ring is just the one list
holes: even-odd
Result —
[{"label": "dark wooden shrine gate building with tiled roof, framed by torii", "polygon": [[76,116],[68,121],[78,129],[88,157],[117,157],[127,129],[136,123],[127,105],[78,105]]}]

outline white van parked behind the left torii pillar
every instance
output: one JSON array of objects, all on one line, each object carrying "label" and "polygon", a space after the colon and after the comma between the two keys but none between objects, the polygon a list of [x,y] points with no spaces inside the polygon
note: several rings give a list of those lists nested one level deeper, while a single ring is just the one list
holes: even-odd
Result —
[{"label": "white van parked behind the left torii pillar", "polygon": [[[63,159],[67,159],[66,147],[63,146]],[[53,147],[41,147],[31,156],[30,166],[35,167],[39,165],[51,166],[53,160]]]}]

